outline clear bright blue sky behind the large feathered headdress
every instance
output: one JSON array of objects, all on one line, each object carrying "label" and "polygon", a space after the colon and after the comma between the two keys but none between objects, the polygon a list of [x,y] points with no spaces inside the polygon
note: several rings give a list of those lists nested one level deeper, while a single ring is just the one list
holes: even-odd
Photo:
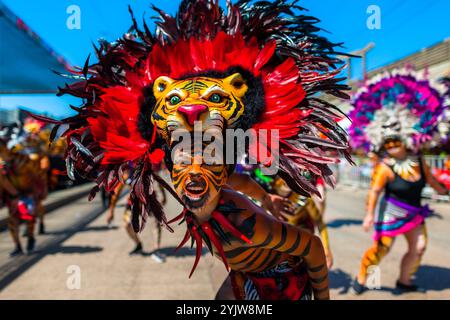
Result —
[{"label": "clear bright blue sky behind the large feathered headdress", "polygon": [[[1,1],[1,0],[0,0]],[[25,21],[53,49],[71,64],[82,65],[92,52],[92,42],[98,38],[115,40],[126,32],[131,24],[127,6],[130,4],[138,20],[153,15],[150,3],[174,13],[178,0],[3,0],[9,9]],[[221,1],[224,3],[224,1]],[[70,5],[81,10],[81,29],[66,27]],[[330,32],[335,42],[344,42],[346,51],[353,51],[374,42],[369,53],[368,69],[380,67],[408,54],[440,42],[450,36],[448,0],[301,0],[299,5],[318,17],[322,28]],[[366,26],[370,5],[381,9],[381,29],[370,30]],[[150,24],[152,25],[152,24]],[[352,65],[353,77],[360,77],[360,63]],[[0,97],[3,107],[26,105],[29,108],[48,111],[57,116],[71,113],[68,103],[73,99],[51,95],[24,99],[21,96]]]}]

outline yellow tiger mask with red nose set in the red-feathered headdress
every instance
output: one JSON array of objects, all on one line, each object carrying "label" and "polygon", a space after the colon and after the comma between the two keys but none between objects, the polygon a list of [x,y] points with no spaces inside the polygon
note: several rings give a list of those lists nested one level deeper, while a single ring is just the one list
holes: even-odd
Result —
[{"label": "yellow tiger mask with red nose set in the red-feathered headdress", "polygon": [[195,77],[174,80],[159,77],[153,86],[156,107],[151,121],[164,139],[179,128],[193,130],[194,121],[207,121],[219,113],[233,128],[244,112],[242,99],[248,87],[239,73],[226,78]]}]

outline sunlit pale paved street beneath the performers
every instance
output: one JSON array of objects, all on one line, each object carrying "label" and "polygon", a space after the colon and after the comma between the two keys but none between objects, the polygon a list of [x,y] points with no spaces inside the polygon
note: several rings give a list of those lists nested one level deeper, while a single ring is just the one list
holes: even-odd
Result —
[{"label": "sunlit pale paved street beneath the performers", "polygon": [[[334,250],[330,271],[333,299],[355,299],[348,293],[359,260],[371,245],[371,235],[361,227],[366,191],[338,187],[329,193],[326,220]],[[105,214],[98,199],[77,200],[55,210],[47,219],[48,235],[38,236],[38,249],[30,256],[10,259],[12,245],[7,232],[0,233],[0,299],[213,299],[226,273],[223,265],[204,251],[191,279],[194,261],[189,247],[174,253],[184,235],[163,231],[164,264],[150,257],[151,226],[144,230],[146,254],[129,257],[133,248],[122,229],[122,198],[115,227],[105,226]],[[399,238],[381,264],[382,289],[367,292],[361,299],[450,299],[450,205],[433,202],[437,215],[428,219],[429,247],[417,274],[426,294],[395,295],[393,286],[406,245]],[[174,216],[179,207],[169,202],[166,211]],[[25,239],[24,239],[25,242]],[[69,289],[71,266],[81,272],[80,289]]]}]

